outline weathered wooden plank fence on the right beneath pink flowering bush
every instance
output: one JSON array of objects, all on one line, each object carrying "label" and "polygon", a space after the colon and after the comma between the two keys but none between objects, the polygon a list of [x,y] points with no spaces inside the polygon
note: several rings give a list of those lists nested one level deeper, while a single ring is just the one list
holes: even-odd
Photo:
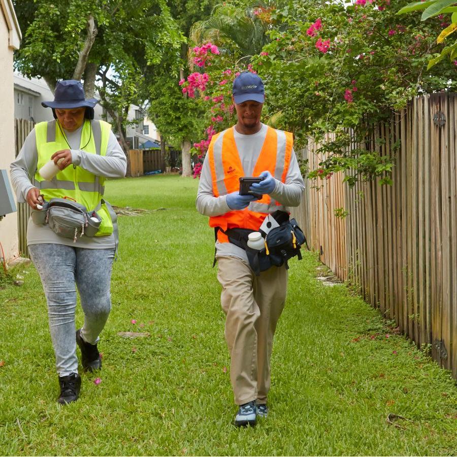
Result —
[{"label": "weathered wooden plank fence on the right beneath pink flowering bush", "polygon": [[[293,214],[322,262],[457,378],[456,112],[457,94],[416,97],[367,141],[394,159],[392,186],[349,188],[341,175],[308,181]],[[316,146],[300,151],[310,169],[325,158]]]}]

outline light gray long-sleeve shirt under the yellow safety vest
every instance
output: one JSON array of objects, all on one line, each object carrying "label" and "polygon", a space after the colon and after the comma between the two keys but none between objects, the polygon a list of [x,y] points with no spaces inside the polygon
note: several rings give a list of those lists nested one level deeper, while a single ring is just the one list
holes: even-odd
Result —
[{"label": "light gray long-sleeve shirt under the yellow safety vest", "polygon": [[[72,153],[73,164],[106,178],[121,178],[127,170],[127,159],[124,151],[119,146],[116,137],[110,132],[108,148],[105,156],[90,154],[79,149],[81,144],[82,126],[75,132],[63,130],[67,137]],[[13,188],[16,191],[18,203],[25,203],[28,191],[35,187],[32,184],[38,164],[38,151],[35,129],[25,139],[16,160],[10,166],[10,175]],[[27,245],[54,243],[73,247],[91,249],[114,248],[114,235],[106,237],[81,237],[76,243],[70,238],[55,234],[47,224],[37,225],[31,218],[27,226]]]}]

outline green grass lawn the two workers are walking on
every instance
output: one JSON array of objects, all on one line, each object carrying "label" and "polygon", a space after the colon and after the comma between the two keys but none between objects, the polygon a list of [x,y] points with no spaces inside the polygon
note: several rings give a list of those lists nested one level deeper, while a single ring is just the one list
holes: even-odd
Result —
[{"label": "green grass lawn the two workers are walking on", "polygon": [[[313,253],[290,262],[269,417],[254,429],[232,425],[214,235],[195,210],[197,186],[177,176],[108,183],[114,205],[166,209],[119,217],[103,370],[82,375],[78,402],[55,401],[35,268],[20,272],[24,285],[0,290],[0,454],[455,455],[457,387],[449,373],[345,285],[317,281]],[[124,331],[150,337],[118,336]],[[409,420],[388,425],[389,413]]]}]

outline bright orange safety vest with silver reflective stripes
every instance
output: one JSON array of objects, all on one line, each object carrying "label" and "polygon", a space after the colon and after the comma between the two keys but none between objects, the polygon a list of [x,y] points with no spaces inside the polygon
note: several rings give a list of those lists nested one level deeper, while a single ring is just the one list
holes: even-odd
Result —
[{"label": "bright orange safety vest with silver reflective stripes", "polygon": [[[285,182],[292,145],[293,137],[290,132],[268,127],[252,176],[259,176],[260,173],[268,170],[277,180]],[[246,175],[235,143],[234,127],[213,136],[208,148],[208,159],[214,197],[240,189],[239,178]],[[220,216],[210,217],[209,224],[211,227],[220,227],[224,231],[227,228],[249,228],[257,231],[267,214],[277,210],[286,211],[286,208],[270,195],[263,195],[262,199],[250,203],[243,210],[229,211]],[[221,231],[217,232],[217,239],[221,243],[228,243],[227,236]]]}]

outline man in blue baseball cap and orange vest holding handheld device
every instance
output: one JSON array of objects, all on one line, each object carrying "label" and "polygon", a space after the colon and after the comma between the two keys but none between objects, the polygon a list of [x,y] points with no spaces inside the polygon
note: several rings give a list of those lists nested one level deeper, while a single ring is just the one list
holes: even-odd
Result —
[{"label": "man in blue baseball cap and orange vest holding handheld device", "polygon": [[[243,72],[233,82],[237,123],[214,135],[208,148],[197,195],[198,211],[215,228],[217,279],[226,315],[225,339],[231,354],[230,379],[239,406],[236,426],[254,426],[268,414],[273,336],[285,303],[287,270],[271,267],[256,276],[246,251],[231,242],[227,230],[256,232],[277,210],[300,204],[304,182],[293,152],[292,134],[260,122],[264,83]],[[239,194],[239,178],[260,177]],[[244,230],[243,230],[244,229]]]}]

